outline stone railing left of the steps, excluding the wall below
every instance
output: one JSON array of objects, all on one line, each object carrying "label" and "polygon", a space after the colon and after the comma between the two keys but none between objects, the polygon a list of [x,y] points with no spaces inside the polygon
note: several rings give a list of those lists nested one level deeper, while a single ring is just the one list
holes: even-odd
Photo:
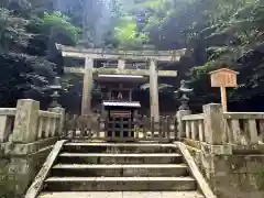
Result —
[{"label": "stone railing left of the steps, excluding the wall below", "polygon": [[16,108],[0,109],[0,142],[31,143],[61,136],[64,109],[40,110],[40,102],[23,99]]}]

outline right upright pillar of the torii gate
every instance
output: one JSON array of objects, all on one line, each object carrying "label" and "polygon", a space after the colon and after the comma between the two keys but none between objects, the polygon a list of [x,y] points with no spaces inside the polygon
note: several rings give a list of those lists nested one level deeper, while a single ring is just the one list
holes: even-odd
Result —
[{"label": "right upright pillar of the torii gate", "polygon": [[151,117],[154,121],[160,120],[160,108],[158,108],[158,84],[157,84],[157,65],[156,61],[151,59],[150,63],[150,103],[151,103]]}]

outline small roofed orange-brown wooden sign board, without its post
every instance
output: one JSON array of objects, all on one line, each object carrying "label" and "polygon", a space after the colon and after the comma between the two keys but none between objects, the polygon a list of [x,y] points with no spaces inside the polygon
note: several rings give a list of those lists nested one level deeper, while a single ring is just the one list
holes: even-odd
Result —
[{"label": "small roofed orange-brown wooden sign board, without its post", "polygon": [[228,68],[221,68],[210,73],[211,87],[238,87],[238,73]]}]

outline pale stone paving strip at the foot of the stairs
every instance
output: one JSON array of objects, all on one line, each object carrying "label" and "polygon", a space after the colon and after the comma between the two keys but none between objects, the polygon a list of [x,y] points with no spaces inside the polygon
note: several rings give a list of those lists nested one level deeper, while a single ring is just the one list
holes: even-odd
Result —
[{"label": "pale stone paving strip at the foot of the stairs", "polygon": [[67,191],[45,193],[38,198],[205,198],[198,191]]}]

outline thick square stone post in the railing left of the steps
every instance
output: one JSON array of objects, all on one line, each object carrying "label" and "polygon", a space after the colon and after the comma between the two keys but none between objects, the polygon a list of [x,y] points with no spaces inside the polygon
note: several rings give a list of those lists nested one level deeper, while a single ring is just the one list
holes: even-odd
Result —
[{"label": "thick square stone post in the railing left of the steps", "polygon": [[37,139],[38,111],[38,101],[31,99],[18,100],[13,142],[30,143]]}]

